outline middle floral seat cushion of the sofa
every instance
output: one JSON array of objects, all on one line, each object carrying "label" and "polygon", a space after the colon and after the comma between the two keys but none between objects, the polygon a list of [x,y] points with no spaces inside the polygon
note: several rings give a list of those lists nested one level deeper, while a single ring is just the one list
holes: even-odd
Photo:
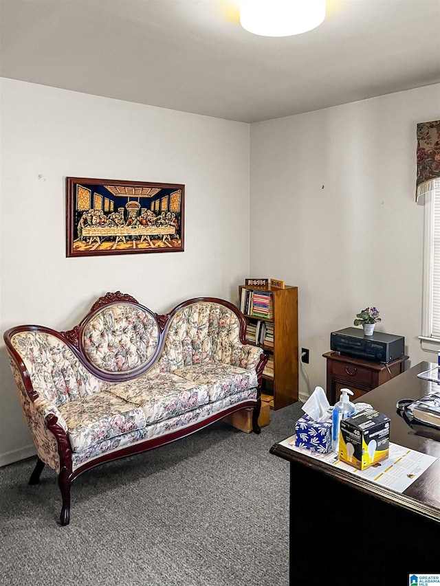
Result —
[{"label": "middle floral seat cushion of the sofa", "polygon": [[170,372],[144,374],[112,385],[109,392],[142,407],[147,425],[184,414],[209,401],[207,385]]}]

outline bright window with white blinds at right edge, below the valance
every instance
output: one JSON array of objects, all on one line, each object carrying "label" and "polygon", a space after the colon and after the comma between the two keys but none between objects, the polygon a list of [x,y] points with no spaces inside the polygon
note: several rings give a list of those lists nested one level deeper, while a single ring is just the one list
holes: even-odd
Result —
[{"label": "bright window with white blinds at right edge, below the valance", "polygon": [[440,349],[440,179],[425,194],[421,348]]}]

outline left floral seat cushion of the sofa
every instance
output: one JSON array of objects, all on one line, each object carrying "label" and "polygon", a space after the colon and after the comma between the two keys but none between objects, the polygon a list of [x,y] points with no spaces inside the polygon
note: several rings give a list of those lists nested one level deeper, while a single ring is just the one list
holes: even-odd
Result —
[{"label": "left floral seat cushion of the sofa", "polygon": [[59,407],[59,412],[67,423],[74,452],[146,425],[140,407],[107,391],[69,401]]}]

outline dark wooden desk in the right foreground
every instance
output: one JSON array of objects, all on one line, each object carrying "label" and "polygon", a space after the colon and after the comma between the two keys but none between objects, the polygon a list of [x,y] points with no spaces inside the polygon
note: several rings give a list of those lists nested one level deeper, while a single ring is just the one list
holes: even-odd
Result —
[{"label": "dark wooden desk in the right foreground", "polygon": [[270,449],[290,462],[291,586],[399,586],[410,574],[440,573],[440,442],[416,435],[395,408],[438,388],[417,378],[429,367],[422,362],[368,394],[391,418],[392,442],[439,458],[404,493],[280,444]]}]

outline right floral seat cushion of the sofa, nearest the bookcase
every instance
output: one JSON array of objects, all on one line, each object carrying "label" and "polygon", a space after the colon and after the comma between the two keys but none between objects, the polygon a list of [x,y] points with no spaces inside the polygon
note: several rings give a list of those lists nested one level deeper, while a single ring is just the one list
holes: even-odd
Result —
[{"label": "right floral seat cushion of the sofa, nearest the bookcase", "polygon": [[239,366],[231,366],[221,362],[193,364],[173,371],[188,381],[199,385],[208,385],[209,400],[219,399],[236,394],[245,389],[252,389],[258,385],[255,370],[245,370]]}]

